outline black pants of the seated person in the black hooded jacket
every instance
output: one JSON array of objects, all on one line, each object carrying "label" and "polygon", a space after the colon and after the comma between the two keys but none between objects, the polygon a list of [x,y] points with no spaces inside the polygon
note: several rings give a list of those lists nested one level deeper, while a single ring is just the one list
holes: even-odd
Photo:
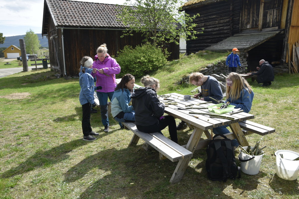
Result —
[{"label": "black pants of the seated person in the black hooded jacket", "polygon": [[175,143],[178,143],[178,135],[176,132],[176,121],[175,121],[174,117],[171,115],[165,116],[165,118],[162,121],[158,120],[157,123],[150,125],[150,126],[144,127],[144,126],[136,125],[136,127],[139,131],[142,131],[145,133],[154,133],[154,132],[161,133],[161,130],[165,129],[167,126],[168,126],[168,131],[169,131],[171,140],[174,141]]}]

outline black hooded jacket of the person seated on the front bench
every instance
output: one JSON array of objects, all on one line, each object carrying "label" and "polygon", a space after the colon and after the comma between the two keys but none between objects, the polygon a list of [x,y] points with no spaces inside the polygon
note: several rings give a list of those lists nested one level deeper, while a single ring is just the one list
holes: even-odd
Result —
[{"label": "black hooded jacket of the person seated on the front bench", "polygon": [[136,125],[144,127],[153,125],[164,114],[165,105],[158,100],[155,89],[141,87],[131,94],[131,99]]}]

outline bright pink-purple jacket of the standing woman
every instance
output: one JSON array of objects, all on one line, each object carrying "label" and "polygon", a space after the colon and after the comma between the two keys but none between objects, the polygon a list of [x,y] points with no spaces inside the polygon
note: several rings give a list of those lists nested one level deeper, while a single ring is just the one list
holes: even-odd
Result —
[{"label": "bright pink-purple jacket of the standing woman", "polygon": [[[108,54],[107,54],[108,55]],[[92,68],[96,68],[98,70],[103,69],[104,73],[108,76],[101,74],[100,72],[91,73],[93,77],[97,77],[96,86],[102,86],[102,90],[97,90],[99,92],[113,92],[116,87],[115,74],[120,73],[120,66],[116,62],[114,58],[111,58],[110,55],[101,62],[97,55],[94,56],[94,62],[92,64]]]}]

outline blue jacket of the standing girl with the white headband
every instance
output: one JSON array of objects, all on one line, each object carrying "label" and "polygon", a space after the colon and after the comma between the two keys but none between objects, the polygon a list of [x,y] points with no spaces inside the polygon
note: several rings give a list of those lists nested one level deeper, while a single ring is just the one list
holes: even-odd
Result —
[{"label": "blue jacket of the standing girl with the white headband", "polygon": [[83,67],[81,66],[79,72],[79,84],[81,87],[80,94],[79,94],[79,101],[80,104],[94,104],[94,78],[91,76],[91,68],[86,68],[85,73],[82,72]]}]

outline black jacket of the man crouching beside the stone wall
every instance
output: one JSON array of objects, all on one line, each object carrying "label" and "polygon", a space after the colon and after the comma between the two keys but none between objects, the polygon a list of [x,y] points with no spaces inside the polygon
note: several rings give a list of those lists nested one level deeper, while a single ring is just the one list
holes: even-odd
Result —
[{"label": "black jacket of the man crouching beside the stone wall", "polygon": [[269,64],[268,61],[263,62],[263,64],[260,65],[260,70],[251,73],[251,75],[257,75],[258,84],[268,81],[274,81],[273,67]]}]

